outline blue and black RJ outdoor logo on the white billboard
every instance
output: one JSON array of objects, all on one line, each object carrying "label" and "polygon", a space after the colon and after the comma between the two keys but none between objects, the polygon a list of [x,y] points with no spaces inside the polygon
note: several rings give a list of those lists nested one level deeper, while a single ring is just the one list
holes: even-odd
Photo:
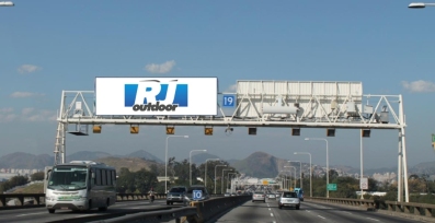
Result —
[{"label": "blue and black RJ outdoor logo on the white billboard", "polygon": [[178,80],[168,83],[144,80],[125,84],[125,107],[131,107],[134,111],[174,111],[176,107],[187,107],[187,86]]}]

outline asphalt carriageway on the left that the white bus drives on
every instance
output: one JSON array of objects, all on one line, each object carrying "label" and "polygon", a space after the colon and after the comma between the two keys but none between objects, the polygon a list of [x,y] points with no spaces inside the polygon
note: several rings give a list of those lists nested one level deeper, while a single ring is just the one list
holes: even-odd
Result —
[{"label": "asphalt carriageway on the left that the white bus drives on", "polygon": [[[89,212],[72,212],[68,210],[56,210],[56,213],[48,213],[46,208],[30,208],[30,209],[14,209],[1,210],[0,222],[20,222],[20,223],[39,223],[39,222],[85,222],[82,218],[101,216],[116,213],[133,213],[154,208],[168,207],[165,200],[156,200],[150,203],[148,200],[142,201],[125,201],[116,202],[114,206],[108,207],[107,211],[101,212],[96,209]],[[181,207],[181,206],[173,206]],[[95,221],[95,220],[92,220]]]}]

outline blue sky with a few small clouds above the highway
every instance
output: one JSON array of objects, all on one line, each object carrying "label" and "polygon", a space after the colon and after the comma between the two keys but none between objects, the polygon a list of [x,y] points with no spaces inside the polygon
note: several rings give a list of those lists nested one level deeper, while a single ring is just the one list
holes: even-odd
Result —
[{"label": "blue sky with a few small clouds above the highway", "polygon": [[[61,91],[93,91],[95,77],[217,77],[219,91],[237,80],[358,81],[364,94],[402,95],[410,166],[435,161],[435,8],[411,1],[23,1],[0,7],[0,156],[50,154]],[[78,151],[164,160],[164,127],[103,126],[101,134],[67,134]],[[256,151],[325,164],[325,145],[305,141],[324,129],[176,127],[169,156],[206,149],[222,160]],[[359,131],[329,140],[330,165],[359,167]],[[364,168],[394,167],[398,131],[364,138]]]}]

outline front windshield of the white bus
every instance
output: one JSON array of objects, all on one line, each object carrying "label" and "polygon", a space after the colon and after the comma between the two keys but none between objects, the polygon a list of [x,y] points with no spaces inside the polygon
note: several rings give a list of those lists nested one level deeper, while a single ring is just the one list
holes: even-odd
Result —
[{"label": "front windshield of the white bus", "polygon": [[79,190],[87,188],[88,168],[84,166],[54,167],[47,188],[56,190]]}]

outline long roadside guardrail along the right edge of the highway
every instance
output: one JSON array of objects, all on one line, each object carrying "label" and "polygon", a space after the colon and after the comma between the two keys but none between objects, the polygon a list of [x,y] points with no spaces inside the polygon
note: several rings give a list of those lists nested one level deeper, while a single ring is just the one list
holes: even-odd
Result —
[{"label": "long roadside guardrail along the right edge of the highway", "polygon": [[435,220],[435,204],[430,204],[430,203],[347,199],[347,198],[319,198],[319,197],[312,197],[312,198],[306,197],[306,200],[353,206],[358,208],[363,207],[367,209],[367,211],[379,211],[386,214],[390,214],[390,215],[397,214],[409,219],[430,220],[430,221]]}]

